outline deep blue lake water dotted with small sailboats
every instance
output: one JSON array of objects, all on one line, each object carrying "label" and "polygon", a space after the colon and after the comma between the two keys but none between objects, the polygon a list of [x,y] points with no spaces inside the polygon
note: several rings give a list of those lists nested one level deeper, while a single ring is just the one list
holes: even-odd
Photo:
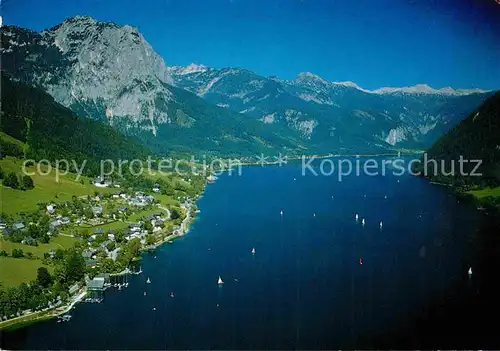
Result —
[{"label": "deep blue lake water dotted with small sailboats", "polygon": [[424,179],[339,182],[301,176],[299,163],[223,174],[198,205],[189,233],[145,254],[144,273],[127,289],[78,304],[69,323],[4,333],[3,347],[371,347],[467,279],[478,221],[474,208]]}]

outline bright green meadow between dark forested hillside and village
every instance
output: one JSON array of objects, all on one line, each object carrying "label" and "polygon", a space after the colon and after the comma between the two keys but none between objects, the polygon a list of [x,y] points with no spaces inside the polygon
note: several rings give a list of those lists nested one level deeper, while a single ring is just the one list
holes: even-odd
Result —
[{"label": "bright green meadow between dark forested hillside and village", "polygon": [[[0,167],[7,172],[21,173],[22,160],[6,157],[0,160]],[[43,172],[47,171],[46,167],[41,167]],[[28,167],[29,172],[35,172],[35,167]],[[38,173],[38,172],[37,172]],[[56,181],[56,171],[48,175],[35,174],[31,176],[35,183],[35,188],[32,190],[22,191],[11,188],[1,187],[0,212],[8,214],[19,212],[30,212],[37,209],[39,202],[62,202],[71,200],[72,196],[93,195],[95,191],[102,193],[110,193],[115,189],[97,188],[90,184],[87,177],[81,177],[84,184],[80,181],[75,181],[74,174],[61,175],[59,182]],[[7,206],[8,204],[8,206]]]}]

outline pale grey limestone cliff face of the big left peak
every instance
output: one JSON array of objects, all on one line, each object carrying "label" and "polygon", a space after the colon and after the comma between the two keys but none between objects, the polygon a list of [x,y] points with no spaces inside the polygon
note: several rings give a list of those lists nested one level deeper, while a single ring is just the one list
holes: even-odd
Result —
[{"label": "pale grey limestone cliff face of the big left peak", "polygon": [[[41,46],[27,52],[35,61],[29,83],[42,86],[62,105],[153,134],[171,121],[165,63],[135,28],[77,16],[40,33],[23,34],[28,36],[24,42]],[[9,29],[4,35],[11,39],[4,50],[19,51],[22,35]],[[47,60],[48,51],[59,61],[57,76],[54,67],[36,65]]]}]

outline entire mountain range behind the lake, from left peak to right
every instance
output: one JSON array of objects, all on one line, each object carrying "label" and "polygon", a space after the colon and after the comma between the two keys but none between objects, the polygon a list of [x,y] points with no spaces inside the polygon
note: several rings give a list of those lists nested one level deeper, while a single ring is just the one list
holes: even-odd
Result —
[{"label": "entire mountain range behind the lake, from left peak to right", "polygon": [[159,153],[359,153],[422,149],[491,92],[426,85],[362,89],[311,73],[168,67],[133,27],[77,16],[42,32],[3,27],[2,70],[78,116]]}]

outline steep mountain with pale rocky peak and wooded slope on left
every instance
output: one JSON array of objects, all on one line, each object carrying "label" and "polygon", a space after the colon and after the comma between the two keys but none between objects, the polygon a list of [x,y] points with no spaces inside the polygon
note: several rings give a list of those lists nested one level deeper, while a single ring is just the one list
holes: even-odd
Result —
[{"label": "steep mountain with pale rocky peak and wooded slope on left", "polygon": [[14,79],[159,153],[241,156],[305,148],[298,133],[266,128],[170,85],[163,59],[133,27],[78,16],[42,32],[2,27],[1,40],[2,70]]}]

